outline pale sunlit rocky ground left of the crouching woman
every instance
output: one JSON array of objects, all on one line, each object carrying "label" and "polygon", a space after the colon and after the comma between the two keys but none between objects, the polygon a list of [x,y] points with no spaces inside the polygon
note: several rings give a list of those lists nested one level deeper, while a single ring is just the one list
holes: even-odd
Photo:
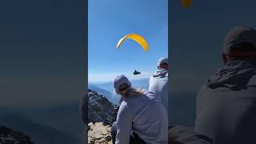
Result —
[{"label": "pale sunlit rocky ground left of the crouching woman", "polygon": [[89,144],[112,144],[111,127],[104,126],[103,122],[90,122],[88,124],[88,143]]}]

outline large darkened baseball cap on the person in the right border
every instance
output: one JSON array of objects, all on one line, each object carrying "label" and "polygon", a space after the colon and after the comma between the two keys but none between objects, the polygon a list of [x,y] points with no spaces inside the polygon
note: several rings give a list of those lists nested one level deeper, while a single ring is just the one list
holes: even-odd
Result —
[{"label": "large darkened baseball cap on the person in the right border", "polygon": [[[251,45],[256,46],[256,30],[254,27],[237,26],[231,29],[224,41],[223,54],[232,55],[231,47],[239,43],[250,43]],[[248,52],[242,53],[248,55]],[[242,53],[240,55],[242,55]],[[236,54],[239,55],[238,53]]]}]

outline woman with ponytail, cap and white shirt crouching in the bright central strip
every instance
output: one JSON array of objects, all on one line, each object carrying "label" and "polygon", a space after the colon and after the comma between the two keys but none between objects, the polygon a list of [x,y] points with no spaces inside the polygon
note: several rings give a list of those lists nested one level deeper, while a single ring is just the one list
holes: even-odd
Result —
[{"label": "woman with ponytail, cap and white shirt crouching in the bright central strip", "polygon": [[116,144],[167,144],[167,114],[158,98],[148,90],[135,90],[124,75],[114,79],[114,89],[123,100],[117,122],[112,126],[112,141]]}]

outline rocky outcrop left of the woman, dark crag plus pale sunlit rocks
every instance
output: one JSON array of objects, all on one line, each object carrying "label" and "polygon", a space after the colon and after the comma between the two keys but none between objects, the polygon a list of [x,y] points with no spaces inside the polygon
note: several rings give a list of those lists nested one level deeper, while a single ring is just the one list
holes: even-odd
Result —
[{"label": "rocky outcrop left of the woman, dark crag plus pale sunlit rocks", "polygon": [[118,106],[93,90],[88,90],[88,143],[112,144],[111,125],[118,114]]}]

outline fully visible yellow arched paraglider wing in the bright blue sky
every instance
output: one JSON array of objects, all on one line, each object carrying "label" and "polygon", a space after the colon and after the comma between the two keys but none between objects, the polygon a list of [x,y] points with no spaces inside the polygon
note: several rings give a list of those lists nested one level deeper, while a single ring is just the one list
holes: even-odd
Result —
[{"label": "fully visible yellow arched paraglider wing in the bright blue sky", "polygon": [[145,51],[149,50],[149,46],[147,45],[146,40],[138,34],[127,34],[125,37],[121,38],[118,42],[117,49],[122,45],[122,42],[124,42],[126,38],[130,38],[135,42],[138,42]]}]

